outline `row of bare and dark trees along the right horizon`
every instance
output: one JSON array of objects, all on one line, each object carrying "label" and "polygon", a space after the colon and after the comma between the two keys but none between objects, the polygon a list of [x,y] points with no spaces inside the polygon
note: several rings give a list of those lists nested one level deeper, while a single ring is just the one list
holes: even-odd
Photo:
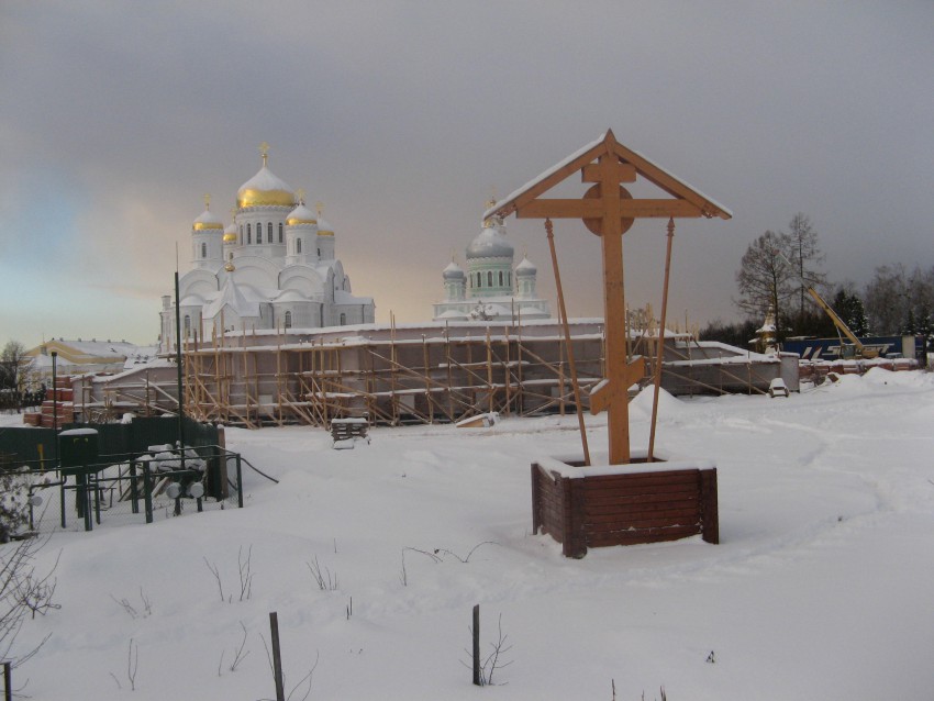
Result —
[{"label": "row of bare and dark trees along the right horizon", "polygon": [[860,291],[853,282],[831,283],[821,267],[825,255],[811,220],[799,212],[788,232],[766,231],[743,255],[736,272],[736,307],[746,319],[713,322],[701,337],[745,347],[772,311],[778,341],[790,336],[834,336],[837,330],[815,303],[813,288],[857,336],[920,334],[934,340],[934,266],[909,271],[902,264],[876,268]]}]

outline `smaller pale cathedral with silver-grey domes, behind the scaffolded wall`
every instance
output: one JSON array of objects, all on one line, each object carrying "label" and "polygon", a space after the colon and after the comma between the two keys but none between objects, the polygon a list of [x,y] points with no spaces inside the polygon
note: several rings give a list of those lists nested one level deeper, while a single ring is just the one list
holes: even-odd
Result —
[{"label": "smaller pale cathedral with silver-grey domes, behind the scaffolded wall", "polygon": [[537,268],[525,256],[513,268],[513,255],[502,218],[485,220],[482,230],[467,246],[467,272],[454,260],[442,272],[446,297],[434,303],[434,321],[519,323],[551,318],[547,300],[535,289]]}]

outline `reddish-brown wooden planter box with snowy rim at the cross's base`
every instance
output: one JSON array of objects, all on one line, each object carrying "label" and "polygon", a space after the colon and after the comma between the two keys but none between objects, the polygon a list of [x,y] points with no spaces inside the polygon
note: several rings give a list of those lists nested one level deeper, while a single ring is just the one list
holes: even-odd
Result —
[{"label": "reddish-brown wooden planter box with snowy rim at the cross's base", "polygon": [[[554,469],[557,465],[558,469]],[[716,468],[663,463],[579,468],[532,464],[532,528],[547,533],[566,557],[588,547],[676,541],[700,534],[720,541]],[[574,469],[578,467],[579,469]],[[634,469],[643,468],[641,471]]]}]

